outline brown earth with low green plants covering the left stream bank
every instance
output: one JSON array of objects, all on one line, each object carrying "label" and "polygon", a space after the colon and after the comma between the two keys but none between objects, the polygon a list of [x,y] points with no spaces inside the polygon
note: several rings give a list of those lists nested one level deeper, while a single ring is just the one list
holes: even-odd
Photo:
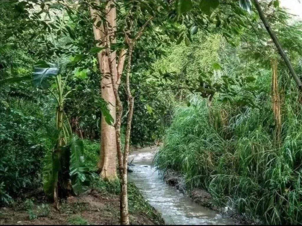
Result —
[{"label": "brown earth with low green plants covering the left stream bank", "polygon": [[[131,184],[130,224],[164,224],[163,219]],[[56,210],[44,195],[0,208],[0,224],[119,224],[119,195],[112,189],[90,189],[79,196],[62,200]]]}]

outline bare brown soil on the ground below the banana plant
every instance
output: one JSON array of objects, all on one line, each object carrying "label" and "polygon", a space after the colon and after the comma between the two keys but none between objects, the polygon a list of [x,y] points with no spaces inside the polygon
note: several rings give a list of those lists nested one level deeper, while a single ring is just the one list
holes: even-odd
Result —
[{"label": "bare brown soil on the ground below the banana plant", "polygon": [[[47,213],[41,211],[42,204],[49,205]],[[36,219],[29,219],[29,209],[34,211]],[[43,196],[36,197],[30,208],[24,203],[2,207],[0,224],[119,224],[119,214],[119,195],[88,190],[63,200],[59,210]],[[158,224],[143,211],[129,211],[129,219],[130,224]]]}]

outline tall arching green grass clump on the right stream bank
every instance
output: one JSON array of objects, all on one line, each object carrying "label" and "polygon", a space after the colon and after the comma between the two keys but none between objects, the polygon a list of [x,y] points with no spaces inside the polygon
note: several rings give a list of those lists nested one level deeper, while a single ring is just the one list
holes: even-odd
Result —
[{"label": "tall arching green grass clump on the right stream bank", "polygon": [[278,146],[274,115],[267,108],[234,108],[216,102],[209,110],[204,100],[194,97],[190,107],[175,109],[155,164],[161,171],[182,172],[188,188],[207,189],[220,205],[260,217],[267,224],[299,224],[299,105],[285,102],[282,143]]}]

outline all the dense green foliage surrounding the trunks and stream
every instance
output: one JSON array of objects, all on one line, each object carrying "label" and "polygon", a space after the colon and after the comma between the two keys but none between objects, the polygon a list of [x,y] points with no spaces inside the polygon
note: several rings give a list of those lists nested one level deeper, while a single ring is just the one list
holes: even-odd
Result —
[{"label": "all the dense green foliage surrounding the trunks and stream", "polygon": [[[67,196],[97,183],[100,119],[113,118],[100,95],[104,48],[91,2],[0,3],[1,205],[42,186],[55,197],[57,187]],[[261,7],[301,74],[301,23],[288,25],[278,0]],[[131,144],[163,141],[159,169],[182,172],[220,205],[270,224],[301,222],[302,97],[252,2],[117,1],[116,10],[112,52],[127,48],[126,28],[133,38],[153,18],[130,64]],[[124,145],[125,76],[118,92]],[[135,195],[132,206],[145,205]]]}]

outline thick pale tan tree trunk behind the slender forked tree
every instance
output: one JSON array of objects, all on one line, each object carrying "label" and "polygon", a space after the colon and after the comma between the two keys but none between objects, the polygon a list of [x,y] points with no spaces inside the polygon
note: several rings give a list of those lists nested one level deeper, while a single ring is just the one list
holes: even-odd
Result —
[{"label": "thick pale tan tree trunk behind the slender forked tree", "polygon": [[[99,3],[98,1],[96,1]],[[113,1],[109,1],[107,7],[109,8],[113,4]],[[93,27],[93,32],[95,35],[95,40],[100,40],[101,42],[97,46],[104,46],[104,29],[103,26],[96,27],[100,18],[97,15],[97,12],[90,8],[92,17],[97,17],[95,20],[95,26]],[[109,10],[109,13],[106,15],[108,21],[109,32],[116,30],[116,10],[115,7]],[[112,42],[116,42],[115,37],[112,37]],[[112,52],[112,64],[116,65],[116,53]],[[101,97],[109,103],[108,108],[110,109],[111,116],[115,121],[116,111],[115,111],[115,96],[112,89],[112,83],[110,78],[110,68],[108,64],[108,56],[106,51],[101,51],[98,53],[98,61],[100,70],[102,73],[102,78],[100,81],[100,93]],[[113,67],[113,76],[117,78],[117,67]],[[100,150],[100,159],[98,162],[98,168],[101,171],[100,175],[104,179],[114,180],[117,178],[116,173],[116,139],[115,139],[115,128],[112,125],[108,125],[104,119],[101,117],[101,150]]]}]

